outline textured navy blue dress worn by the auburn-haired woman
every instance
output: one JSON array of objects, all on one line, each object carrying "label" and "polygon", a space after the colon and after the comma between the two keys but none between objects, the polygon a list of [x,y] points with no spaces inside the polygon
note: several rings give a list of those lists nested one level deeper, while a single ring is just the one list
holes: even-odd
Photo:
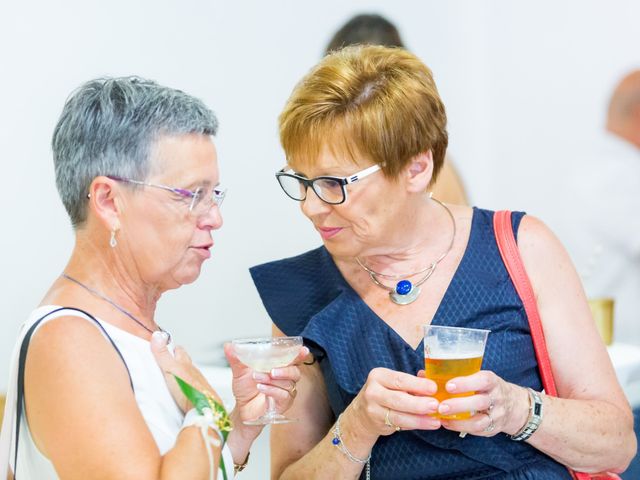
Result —
[{"label": "textured navy blue dress worn by the auburn-haired woman", "polygon": [[[523,215],[512,215],[515,232]],[[422,344],[414,350],[380,319],[324,247],[253,267],[251,275],[273,322],[287,335],[302,335],[319,358],[334,415],[345,410],[373,368],[413,374],[424,368]],[[495,242],[493,212],[474,209],[467,249],[432,324],[491,330],[482,368],[541,390],[524,307]],[[504,434],[460,438],[444,428],[380,437],[371,473],[376,480],[571,478],[550,457]]]}]

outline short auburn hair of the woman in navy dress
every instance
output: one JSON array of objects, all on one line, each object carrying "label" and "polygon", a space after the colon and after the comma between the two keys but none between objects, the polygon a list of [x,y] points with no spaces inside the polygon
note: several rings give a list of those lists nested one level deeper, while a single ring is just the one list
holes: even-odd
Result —
[{"label": "short auburn hair of the woman in navy dress", "polygon": [[447,150],[447,116],[431,71],[402,48],[351,46],[327,55],[294,88],[280,114],[280,142],[294,168],[323,147],[396,178],[431,150],[433,178]]}]

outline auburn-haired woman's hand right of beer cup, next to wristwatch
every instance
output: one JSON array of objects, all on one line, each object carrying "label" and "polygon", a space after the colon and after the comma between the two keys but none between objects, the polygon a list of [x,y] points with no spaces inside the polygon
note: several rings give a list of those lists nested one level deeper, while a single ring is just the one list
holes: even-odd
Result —
[{"label": "auburn-haired woman's hand right of beer cup, next to wristwatch", "polygon": [[448,430],[466,432],[480,437],[492,437],[500,432],[510,435],[527,422],[529,394],[527,390],[504,381],[495,373],[481,370],[466,377],[457,377],[446,384],[449,393],[474,392],[468,397],[443,400],[438,412],[453,415],[476,412],[467,420],[442,420]]}]

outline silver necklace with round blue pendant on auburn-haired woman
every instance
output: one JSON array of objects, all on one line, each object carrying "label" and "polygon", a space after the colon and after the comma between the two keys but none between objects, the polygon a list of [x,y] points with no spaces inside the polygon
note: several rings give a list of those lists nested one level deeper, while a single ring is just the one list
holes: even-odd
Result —
[{"label": "silver necklace with round blue pendant on auburn-haired woman", "polygon": [[[442,205],[442,207],[446,210],[447,214],[449,215],[449,218],[451,219],[451,224],[453,226],[453,234],[451,235],[451,243],[449,243],[449,248],[447,248],[447,250],[442,255],[440,255],[433,263],[423,268],[422,270],[418,270],[413,273],[400,274],[400,275],[385,275],[384,273],[376,272],[375,270],[372,270],[371,268],[367,267],[364,263],[362,263],[360,258],[356,257],[356,262],[358,263],[358,265],[360,265],[360,267],[363,270],[365,270],[369,274],[371,281],[375,283],[377,286],[379,286],[380,288],[389,292],[389,298],[391,298],[391,301],[398,305],[409,305],[410,303],[413,303],[416,301],[416,299],[420,295],[420,286],[424,282],[429,280],[431,275],[433,275],[433,273],[436,271],[436,267],[438,266],[438,264],[444,259],[444,257],[446,257],[449,254],[449,252],[453,248],[453,242],[455,241],[455,238],[456,238],[456,220],[455,218],[453,218],[453,213],[451,213],[451,210],[449,210],[449,207],[447,207],[440,200],[433,197],[430,197],[430,198],[433,201]],[[407,280],[407,278],[413,277],[415,275],[420,275],[422,273],[424,273],[424,276],[415,283],[412,283],[411,281]],[[378,279],[378,277],[389,278],[392,280],[397,280],[397,279],[401,279],[401,280],[397,282],[395,288],[393,288],[382,283]]]}]

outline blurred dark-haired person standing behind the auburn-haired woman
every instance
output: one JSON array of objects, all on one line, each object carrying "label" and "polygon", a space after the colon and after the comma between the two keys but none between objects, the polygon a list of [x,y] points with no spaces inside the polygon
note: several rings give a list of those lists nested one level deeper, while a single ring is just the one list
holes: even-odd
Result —
[{"label": "blurred dark-haired person standing behind the auburn-haired woman", "polygon": [[[385,17],[376,14],[361,14],[351,18],[331,38],[325,55],[349,45],[383,45],[406,48],[396,26]],[[468,205],[469,199],[464,183],[448,156],[437,180],[429,190],[438,200],[453,205]]]}]

